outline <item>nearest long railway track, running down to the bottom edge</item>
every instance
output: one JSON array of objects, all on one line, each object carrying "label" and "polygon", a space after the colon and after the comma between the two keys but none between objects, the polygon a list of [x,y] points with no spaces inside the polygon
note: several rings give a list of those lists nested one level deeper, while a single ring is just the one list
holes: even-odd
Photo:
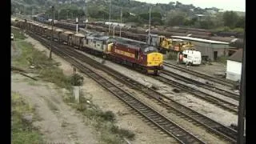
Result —
[{"label": "nearest long railway track, running down to the bottom edge", "polygon": [[[31,33],[30,33],[31,34]],[[50,47],[50,42],[47,42],[45,39],[39,38],[38,36],[33,35],[39,42],[42,42],[46,47]],[[100,74],[90,70],[90,68],[82,65],[81,62],[78,62],[76,59],[70,56],[69,51],[66,49],[59,50],[58,46],[52,45],[52,50],[55,54],[64,57],[66,61],[73,64],[78,70],[81,70],[82,73],[88,75],[90,78],[93,78],[95,82],[98,82],[101,86],[109,90],[112,94],[118,97],[123,102],[126,102],[128,106],[137,111],[138,114],[141,114],[144,118],[152,122],[155,126],[158,126],[161,130],[165,131],[166,134],[169,134],[173,138],[177,139],[180,143],[206,143],[202,140],[195,137],[190,132],[184,130],[181,126],[178,126],[176,123],[172,122],[170,119],[166,118],[162,114],[159,114],[157,111],[147,106],[144,102],[139,101],[133,95],[127,93],[125,90],[122,90],[119,86],[115,86],[112,82],[102,77]],[[74,55],[73,55],[74,56]]]}]

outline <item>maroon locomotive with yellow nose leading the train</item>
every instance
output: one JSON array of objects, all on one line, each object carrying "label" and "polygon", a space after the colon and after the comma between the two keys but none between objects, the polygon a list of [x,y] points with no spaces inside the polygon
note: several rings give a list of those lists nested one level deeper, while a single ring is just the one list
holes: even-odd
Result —
[{"label": "maroon locomotive with yellow nose leading the train", "polygon": [[162,54],[154,46],[143,42],[115,38],[110,55],[116,62],[138,68],[147,74],[158,74],[162,70]]}]

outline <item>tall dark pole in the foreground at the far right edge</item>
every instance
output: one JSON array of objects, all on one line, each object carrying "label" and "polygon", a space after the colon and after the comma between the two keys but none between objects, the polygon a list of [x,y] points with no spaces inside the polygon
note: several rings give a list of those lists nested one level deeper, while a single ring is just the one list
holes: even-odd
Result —
[{"label": "tall dark pole in the foreground at the far right edge", "polygon": [[[246,31],[246,28],[245,28]],[[242,52],[242,74],[240,84],[240,100],[238,106],[238,144],[245,143],[244,127],[246,120],[246,32],[244,33],[244,47]]]}]

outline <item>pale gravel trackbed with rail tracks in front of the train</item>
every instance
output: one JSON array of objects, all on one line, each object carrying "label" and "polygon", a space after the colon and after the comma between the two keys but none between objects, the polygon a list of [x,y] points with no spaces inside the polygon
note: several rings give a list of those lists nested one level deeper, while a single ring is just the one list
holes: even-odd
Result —
[{"label": "pale gravel trackbed with rail tracks in front of the train", "polygon": [[[185,66],[164,60],[158,75],[143,74],[122,62],[51,42],[33,30],[26,30],[26,35],[26,42],[38,50],[47,55],[52,50],[64,73],[72,74],[73,66],[78,69],[84,78],[82,95],[116,114],[118,126],[134,132],[135,138],[125,142],[236,142],[238,132],[231,125],[238,123],[239,91],[233,90],[234,82],[216,76],[225,72],[224,65]],[[12,58],[22,53],[18,49],[12,42]],[[78,134],[78,142],[97,143],[90,134],[86,137],[92,138],[84,142],[81,129]]]}]

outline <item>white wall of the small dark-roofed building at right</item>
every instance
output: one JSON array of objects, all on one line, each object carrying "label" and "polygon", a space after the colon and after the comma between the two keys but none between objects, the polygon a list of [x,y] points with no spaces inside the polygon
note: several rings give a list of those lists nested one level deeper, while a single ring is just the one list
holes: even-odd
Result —
[{"label": "white wall of the small dark-roofed building at right", "polygon": [[226,79],[238,81],[241,79],[242,62],[226,61]]}]

